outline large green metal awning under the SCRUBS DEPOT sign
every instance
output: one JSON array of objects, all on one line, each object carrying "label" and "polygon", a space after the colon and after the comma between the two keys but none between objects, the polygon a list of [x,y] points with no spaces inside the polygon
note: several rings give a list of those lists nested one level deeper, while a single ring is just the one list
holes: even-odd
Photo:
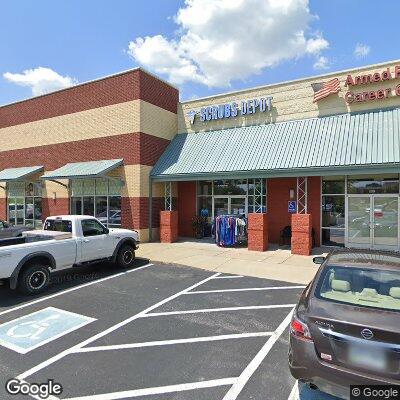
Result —
[{"label": "large green metal awning under the SCRUBS DEPOT sign", "polygon": [[159,181],[400,172],[400,109],[178,134]]}]

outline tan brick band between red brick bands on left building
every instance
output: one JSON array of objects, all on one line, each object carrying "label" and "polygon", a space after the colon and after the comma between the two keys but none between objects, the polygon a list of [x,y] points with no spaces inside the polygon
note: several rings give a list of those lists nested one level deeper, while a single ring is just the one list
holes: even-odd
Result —
[{"label": "tan brick band between red brick bands on left building", "polygon": [[176,114],[133,100],[2,128],[0,148],[7,151],[131,132],[171,139],[176,126]]}]

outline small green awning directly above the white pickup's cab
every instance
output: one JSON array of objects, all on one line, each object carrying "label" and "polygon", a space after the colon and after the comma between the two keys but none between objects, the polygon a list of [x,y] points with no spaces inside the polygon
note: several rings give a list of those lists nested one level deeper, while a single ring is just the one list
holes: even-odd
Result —
[{"label": "small green awning directly above the white pickup's cab", "polygon": [[122,165],[122,158],[117,160],[99,160],[65,164],[55,171],[41,176],[42,179],[98,178]]}]

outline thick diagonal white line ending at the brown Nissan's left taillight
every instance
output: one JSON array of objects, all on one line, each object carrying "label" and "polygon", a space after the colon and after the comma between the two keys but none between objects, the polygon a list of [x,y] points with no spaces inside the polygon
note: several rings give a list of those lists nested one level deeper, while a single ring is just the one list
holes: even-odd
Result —
[{"label": "thick diagonal white line ending at the brown Nissan's left taillight", "polygon": [[292,314],[293,314],[293,310],[290,311],[290,313],[281,322],[281,324],[278,326],[278,328],[273,333],[273,335],[268,339],[268,341],[264,344],[264,346],[256,354],[256,356],[250,361],[250,363],[247,365],[247,367],[240,374],[237,381],[232,385],[232,387],[226,393],[223,400],[236,400],[237,399],[237,397],[239,396],[240,392],[243,390],[246,383],[249,381],[249,379],[252,377],[254,372],[260,366],[260,364],[262,363],[264,358],[267,356],[267,354],[272,349],[272,346],[275,344],[275,342],[279,339],[279,337],[285,331],[287,326],[290,324],[290,320],[292,319]]}]

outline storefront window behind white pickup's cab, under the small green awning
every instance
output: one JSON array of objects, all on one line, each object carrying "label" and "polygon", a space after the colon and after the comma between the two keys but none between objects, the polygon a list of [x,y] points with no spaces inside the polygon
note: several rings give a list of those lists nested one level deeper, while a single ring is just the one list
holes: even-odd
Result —
[{"label": "storefront window behind white pickup's cab, under the small green awning", "polygon": [[121,181],[74,179],[70,182],[71,213],[93,215],[108,227],[121,226]]}]

